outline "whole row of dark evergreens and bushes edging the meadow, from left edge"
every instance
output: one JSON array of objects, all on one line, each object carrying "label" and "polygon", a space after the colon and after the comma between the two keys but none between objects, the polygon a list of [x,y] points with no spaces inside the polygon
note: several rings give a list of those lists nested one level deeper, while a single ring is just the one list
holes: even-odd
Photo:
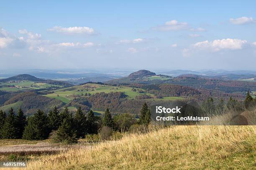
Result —
[{"label": "whole row of dark evergreens and bushes edging the meadow, from left edge", "polygon": [[92,110],[85,114],[81,107],[74,114],[69,112],[67,107],[61,112],[54,107],[47,115],[37,110],[29,117],[26,117],[21,108],[16,115],[13,108],[10,108],[8,114],[0,110],[0,138],[44,140],[52,136],[56,143],[76,143],[87,134],[99,133],[102,127],[120,131],[128,130],[134,124],[148,125],[150,117],[146,103],[142,106],[138,121],[130,114],[113,117],[108,108],[103,117],[95,116]]}]

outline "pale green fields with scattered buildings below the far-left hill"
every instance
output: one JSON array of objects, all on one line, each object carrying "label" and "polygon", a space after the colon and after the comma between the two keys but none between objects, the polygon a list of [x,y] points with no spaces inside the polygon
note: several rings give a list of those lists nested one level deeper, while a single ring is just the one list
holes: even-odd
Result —
[{"label": "pale green fields with scattered buildings below the far-left hill", "polygon": [[[8,92],[18,92],[18,91],[23,91],[23,90],[29,90],[29,89],[44,89],[48,87],[62,87],[60,85],[51,85],[48,83],[36,83],[33,81],[17,81],[17,82],[0,82],[0,90],[2,91],[8,91]],[[11,87],[10,87],[11,86]]]}]

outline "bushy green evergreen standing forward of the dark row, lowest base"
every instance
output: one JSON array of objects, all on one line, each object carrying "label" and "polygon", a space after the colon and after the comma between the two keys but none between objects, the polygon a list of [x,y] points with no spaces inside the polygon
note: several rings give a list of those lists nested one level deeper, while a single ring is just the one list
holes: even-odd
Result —
[{"label": "bushy green evergreen standing forward of the dark row, lowest base", "polygon": [[54,142],[56,143],[77,143],[76,131],[74,130],[74,123],[72,116],[69,115],[64,118],[61,126],[56,131]]}]

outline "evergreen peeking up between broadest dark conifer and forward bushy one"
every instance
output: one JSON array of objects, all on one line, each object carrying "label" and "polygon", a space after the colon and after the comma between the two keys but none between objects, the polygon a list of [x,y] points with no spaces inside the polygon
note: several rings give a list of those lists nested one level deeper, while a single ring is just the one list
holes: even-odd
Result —
[{"label": "evergreen peeking up between broadest dark conifer and forward bushy one", "polygon": [[59,128],[59,125],[61,124],[59,110],[57,110],[57,107],[55,106],[54,110],[50,111],[47,116],[50,130],[57,130]]}]

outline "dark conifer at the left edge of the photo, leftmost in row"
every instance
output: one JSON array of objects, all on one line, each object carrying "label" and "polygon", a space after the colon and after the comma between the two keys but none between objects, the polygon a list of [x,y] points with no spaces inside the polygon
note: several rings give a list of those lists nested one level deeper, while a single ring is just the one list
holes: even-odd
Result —
[{"label": "dark conifer at the left edge of the photo, leftmost in row", "polygon": [[15,139],[17,138],[16,121],[13,108],[11,107],[8,116],[5,119],[5,124],[1,129],[1,136],[3,139]]}]

